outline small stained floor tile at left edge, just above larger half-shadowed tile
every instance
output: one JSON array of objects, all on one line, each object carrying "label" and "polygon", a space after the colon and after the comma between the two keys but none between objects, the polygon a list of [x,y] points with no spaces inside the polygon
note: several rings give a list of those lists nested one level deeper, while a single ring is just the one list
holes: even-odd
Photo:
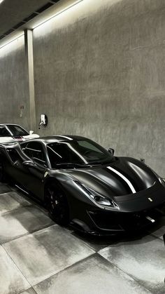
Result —
[{"label": "small stained floor tile at left edge, just above larger half-shadowed tile", "polygon": [[0,194],[0,213],[12,211],[20,206],[30,205],[31,202],[24,199],[17,192],[8,192]]}]

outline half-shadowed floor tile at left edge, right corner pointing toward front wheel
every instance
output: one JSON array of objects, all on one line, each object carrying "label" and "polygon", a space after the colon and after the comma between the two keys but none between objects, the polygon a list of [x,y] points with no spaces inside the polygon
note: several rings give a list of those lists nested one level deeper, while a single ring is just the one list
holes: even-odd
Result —
[{"label": "half-shadowed floor tile at left edge, right corner pointing toward front wheel", "polygon": [[0,215],[0,243],[55,224],[37,206],[27,206]]}]

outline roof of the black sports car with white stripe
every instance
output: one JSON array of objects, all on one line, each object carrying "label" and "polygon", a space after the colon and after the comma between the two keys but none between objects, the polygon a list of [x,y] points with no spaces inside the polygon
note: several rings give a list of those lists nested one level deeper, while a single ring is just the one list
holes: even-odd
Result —
[{"label": "roof of the black sports car with white stripe", "polygon": [[54,135],[54,136],[39,137],[36,139],[27,140],[26,142],[44,142],[47,145],[47,144],[51,144],[55,142],[65,142],[65,141],[71,141],[71,140],[84,140],[84,139],[87,139],[87,138],[78,136],[78,135]]}]

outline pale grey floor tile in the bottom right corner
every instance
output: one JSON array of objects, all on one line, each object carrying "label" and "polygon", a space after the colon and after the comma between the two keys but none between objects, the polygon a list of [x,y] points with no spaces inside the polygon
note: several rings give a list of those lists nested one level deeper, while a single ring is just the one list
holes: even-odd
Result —
[{"label": "pale grey floor tile in the bottom right corner", "polygon": [[99,254],[152,293],[165,293],[165,247],[162,240],[145,236],[101,249]]}]

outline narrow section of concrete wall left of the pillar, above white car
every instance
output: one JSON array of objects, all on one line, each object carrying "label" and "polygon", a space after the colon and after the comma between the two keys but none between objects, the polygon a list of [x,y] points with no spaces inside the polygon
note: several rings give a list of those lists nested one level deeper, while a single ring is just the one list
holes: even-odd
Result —
[{"label": "narrow section of concrete wall left of the pillar, above white car", "polygon": [[[24,36],[0,48],[0,123],[29,128],[29,100],[24,59]],[[20,117],[20,106],[22,118]]]}]

